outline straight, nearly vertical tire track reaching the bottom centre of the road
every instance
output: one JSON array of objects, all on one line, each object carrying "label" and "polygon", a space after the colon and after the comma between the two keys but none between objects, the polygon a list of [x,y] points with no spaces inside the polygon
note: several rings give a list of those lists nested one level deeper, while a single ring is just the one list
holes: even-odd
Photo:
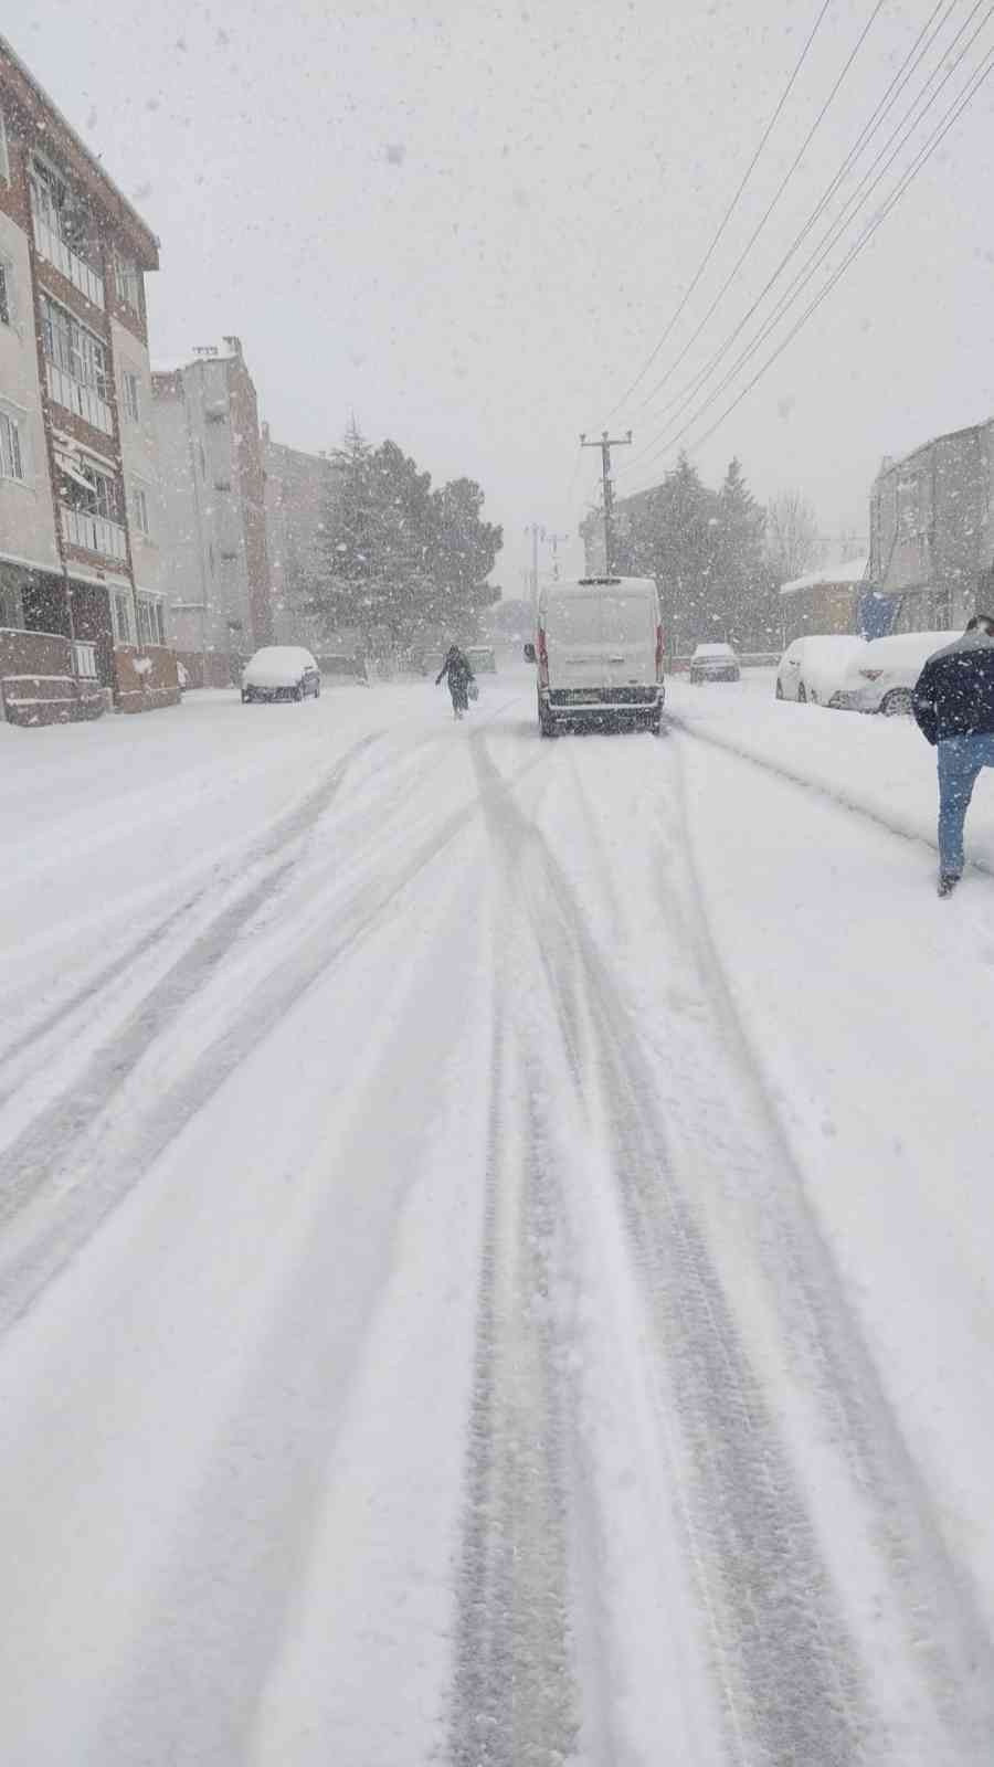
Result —
[{"label": "straight, nearly vertical tire track reaching the bottom centre of the road", "polygon": [[[486,797],[483,799],[486,802]],[[575,1749],[562,1419],[550,1308],[554,1198],[534,1076],[508,1085],[495,1014],[451,1767],[555,1767]],[[524,1113],[524,1145],[513,1122]]]}]

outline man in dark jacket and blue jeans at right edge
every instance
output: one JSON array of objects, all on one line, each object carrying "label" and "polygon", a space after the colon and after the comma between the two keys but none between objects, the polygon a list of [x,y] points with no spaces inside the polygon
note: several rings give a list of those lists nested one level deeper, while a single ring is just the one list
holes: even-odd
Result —
[{"label": "man in dark jacket and blue jeans at right edge", "polygon": [[982,767],[994,767],[994,615],[976,613],[962,638],[929,657],[911,710],[939,751],[939,896],[952,896],[973,788]]}]

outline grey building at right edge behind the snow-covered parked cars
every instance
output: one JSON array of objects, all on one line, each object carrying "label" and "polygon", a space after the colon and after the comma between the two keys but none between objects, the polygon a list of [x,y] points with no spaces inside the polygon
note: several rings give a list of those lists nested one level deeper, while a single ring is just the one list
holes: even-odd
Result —
[{"label": "grey building at right edge behind the snow-covered parked cars", "polygon": [[884,459],[870,493],[870,578],[893,631],[964,626],[992,599],[994,419]]}]

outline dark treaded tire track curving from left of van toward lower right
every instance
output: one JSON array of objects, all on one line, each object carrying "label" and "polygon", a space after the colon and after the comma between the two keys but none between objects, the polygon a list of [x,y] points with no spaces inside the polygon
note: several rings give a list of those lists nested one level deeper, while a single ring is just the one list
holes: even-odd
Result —
[{"label": "dark treaded tire track curving from left of van toward lower right", "polygon": [[[476,756],[481,777],[492,776],[483,742]],[[577,1000],[564,979],[582,977],[633,1269],[692,1467],[688,1546],[707,1583],[700,1596],[716,1627],[729,1746],[739,1762],[776,1767],[872,1760],[858,1652],[707,1248],[667,1168],[667,1126],[653,1111],[653,1080],[640,1071],[624,1005],[545,838],[509,790],[490,804],[495,838],[548,958],[545,974],[580,1097],[591,1074],[578,1060]]]}]

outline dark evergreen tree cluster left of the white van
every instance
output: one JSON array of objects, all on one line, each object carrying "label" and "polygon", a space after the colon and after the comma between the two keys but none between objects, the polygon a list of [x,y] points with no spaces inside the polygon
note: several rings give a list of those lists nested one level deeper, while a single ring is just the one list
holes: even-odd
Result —
[{"label": "dark evergreen tree cluster left of the white van", "polygon": [[432,488],[432,474],[396,445],[373,447],[356,424],[331,456],[329,491],[310,567],[308,611],[322,633],[389,634],[407,648],[474,636],[501,590],[486,578],[502,530],[483,519],[474,479]]}]

